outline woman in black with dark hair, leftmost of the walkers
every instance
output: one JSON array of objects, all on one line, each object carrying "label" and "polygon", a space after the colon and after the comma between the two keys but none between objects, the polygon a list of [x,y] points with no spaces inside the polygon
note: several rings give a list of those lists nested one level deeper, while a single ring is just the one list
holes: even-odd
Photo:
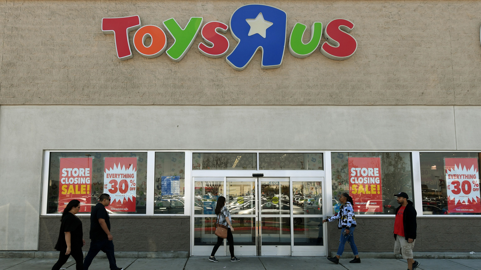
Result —
[{"label": "woman in black with dark hair, leftmost of the walkers", "polygon": [[85,240],[82,238],[82,221],[76,217],[78,210],[80,210],[79,200],[71,200],[63,209],[59,239],[55,245],[55,249],[60,251],[60,255],[52,270],[60,270],[70,255],[75,259],[76,270],[84,269],[82,246],[85,245]]}]

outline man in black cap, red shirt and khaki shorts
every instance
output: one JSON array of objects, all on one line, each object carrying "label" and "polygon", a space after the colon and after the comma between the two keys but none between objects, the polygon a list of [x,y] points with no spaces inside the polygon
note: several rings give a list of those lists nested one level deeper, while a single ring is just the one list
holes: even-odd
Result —
[{"label": "man in black cap, red shirt and khaki shorts", "polygon": [[419,262],[414,260],[413,248],[416,242],[416,209],[413,202],[408,200],[405,192],[394,194],[400,206],[396,209],[394,220],[394,254],[402,254],[407,259],[407,269],[415,270]]}]

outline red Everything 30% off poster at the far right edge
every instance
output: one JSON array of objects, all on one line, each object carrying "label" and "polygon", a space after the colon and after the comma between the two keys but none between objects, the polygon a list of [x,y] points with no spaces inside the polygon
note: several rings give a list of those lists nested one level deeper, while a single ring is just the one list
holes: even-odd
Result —
[{"label": "red Everything 30% off poster at the far right edge", "polygon": [[477,158],[445,158],[449,213],[481,213]]}]

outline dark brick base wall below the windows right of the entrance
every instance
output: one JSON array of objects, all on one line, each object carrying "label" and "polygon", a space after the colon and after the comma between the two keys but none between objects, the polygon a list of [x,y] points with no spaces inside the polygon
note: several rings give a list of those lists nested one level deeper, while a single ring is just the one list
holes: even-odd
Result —
[{"label": "dark brick base wall below the windows right of the entrance", "polygon": [[[354,241],[359,252],[392,252],[394,217],[356,216]],[[414,251],[481,252],[481,220],[477,218],[417,218],[418,231]],[[341,231],[337,222],[328,224],[328,247],[337,251]],[[348,243],[345,252],[352,252]]]}]

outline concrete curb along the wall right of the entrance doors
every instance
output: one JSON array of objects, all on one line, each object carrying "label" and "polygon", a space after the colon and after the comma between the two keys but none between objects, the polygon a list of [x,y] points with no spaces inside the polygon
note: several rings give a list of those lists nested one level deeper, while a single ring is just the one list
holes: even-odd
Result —
[{"label": "concrete curb along the wall right of the entrance doors", "polygon": [[[416,259],[481,259],[481,253],[470,254],[469,252],[413,252]],[[336,257],[336,252],[331,251],[330,257]],[[344,252],[342,258],[354,258],[352,252]],[[392,252],[359,252],[359,258],[363,259],[402,259],[401,254]]]}]

